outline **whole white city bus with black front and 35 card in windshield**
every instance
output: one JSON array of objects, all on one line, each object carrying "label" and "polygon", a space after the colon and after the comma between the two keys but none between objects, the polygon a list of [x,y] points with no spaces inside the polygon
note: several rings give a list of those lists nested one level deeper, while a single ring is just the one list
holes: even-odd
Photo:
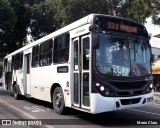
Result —
[{"label": "whole white city bus with black front and 35 card in windshield", "polygon": [[151,46],[143,25],[90,14],[4,58],[3,86],[21,95],[102,113],[151,105]]}]

